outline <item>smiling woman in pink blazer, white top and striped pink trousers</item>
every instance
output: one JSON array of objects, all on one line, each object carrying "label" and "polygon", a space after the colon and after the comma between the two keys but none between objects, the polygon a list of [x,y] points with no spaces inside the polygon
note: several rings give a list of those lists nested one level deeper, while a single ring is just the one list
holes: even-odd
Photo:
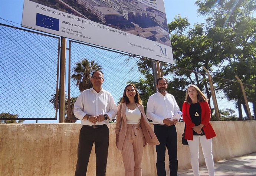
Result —
[{"label": "smiling woman in pink blazer, white top and striped pink trousers", "polygon": [[117,108],[116,146],[122,153],[125,176],[141,176],[143,148],[147,144],[160,143],[146,118],[134,84],[125,87],[122,101]]}]

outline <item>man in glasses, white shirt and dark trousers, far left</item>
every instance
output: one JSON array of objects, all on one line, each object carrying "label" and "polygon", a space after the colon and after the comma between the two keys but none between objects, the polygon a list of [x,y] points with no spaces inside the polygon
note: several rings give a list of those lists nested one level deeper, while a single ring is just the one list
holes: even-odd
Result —
[{"label": "man in glasses, white shirt and dark trousers, far left", "polygon": [[117,113],[114,98],[108,91],[102,89],[104,74],[101,71],[93,72],[91,82],[92,88],[84,90],[74,105],[74,114],[82,124],[75,176],[86,175],[93,143],[96,154],[96,176],[106,175],[109,144],[107,125]]}]

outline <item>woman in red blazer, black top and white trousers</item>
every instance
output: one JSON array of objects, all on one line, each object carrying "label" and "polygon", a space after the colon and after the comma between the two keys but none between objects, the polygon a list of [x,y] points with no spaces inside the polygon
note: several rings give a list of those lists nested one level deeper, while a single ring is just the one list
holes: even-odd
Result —
[{"label": "woman in red blazer, black top and white trousers", "polygon": [[185,139],[190,149],[191,166],[194,176],[199,176],[199,142],[209,176],[214,176],[214,163],[211,150],[212,138],[216,136],[210,124],[211,109],[207,97],[196,85],[189,85],[182,107],[183,120],[186,123]]}]

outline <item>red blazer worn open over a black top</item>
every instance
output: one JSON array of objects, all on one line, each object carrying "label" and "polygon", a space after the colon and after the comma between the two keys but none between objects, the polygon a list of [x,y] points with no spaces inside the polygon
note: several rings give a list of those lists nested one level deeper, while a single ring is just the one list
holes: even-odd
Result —
[{"label": "red blazer worn open over a black top", "polygon": [[[213,138],[214,136],[216,136],[213,127],[211,126],[210,123],[210,118],[211,118],[211,109],[210,106],[208,104],[208,102],[199,102],[201,109],[202,109],[202,117],[201,117],[201,124],[204,124],[203,126],[203,130],[206,136],[206,139],[210,139]],[[190,108],[190,104],[188,104],[187,102],[183,103],[182,106],[182,116],[183,116],[183,120],[186,123],[186,130],[185,130],[185,139],[188,140],[193,140],[193,128],[194,126],[196,126],[190,117],[189,114],[189,108]]]}]

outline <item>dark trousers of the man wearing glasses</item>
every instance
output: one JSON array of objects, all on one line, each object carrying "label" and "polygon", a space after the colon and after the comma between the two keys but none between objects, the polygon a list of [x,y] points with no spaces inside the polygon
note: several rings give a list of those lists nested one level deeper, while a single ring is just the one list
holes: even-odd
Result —
[{"label": "dark trousers of the man wearing glasses", "polygon": [[109,129],[104,125],[101,128],[83,126],[80,130],[78,156],[75,176],[85,176],[89,163],[92,145],[95,145],[96,176],[106,175],[108,159]]}]

